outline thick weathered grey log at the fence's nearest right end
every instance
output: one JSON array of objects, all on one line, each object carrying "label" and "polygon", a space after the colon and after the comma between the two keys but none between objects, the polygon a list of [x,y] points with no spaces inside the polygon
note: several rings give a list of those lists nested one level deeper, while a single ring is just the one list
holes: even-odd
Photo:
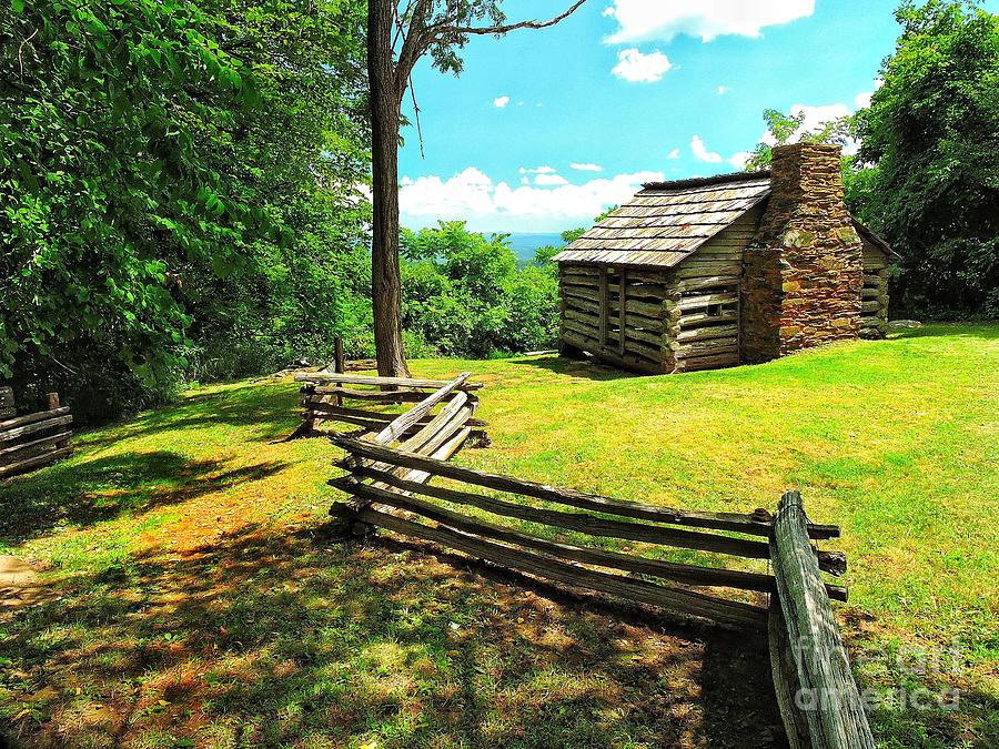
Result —
[{"label": "thick weathered grey log at the fence's nearest right end", "polygon": [[[833,606],[819,573],[818,558],[808,540],[807,517],[799,492],[780,498],[770,538],[770,559],[777,578],[780,615],[787,639],[771,642],[775,685],[787,684],[783,661],[790,650],[797,672],[797,689],[791,702],[805,716],[814,749],[874,749],[874,737],[846,647],[833,614]],[[779,620],[771,628],[778,628]],[[781,657],[783,656],[783,657]],[[779,685],[778,685],[778,688]],[[798,735],[794,716],[781,718],[791,746]]]}]

